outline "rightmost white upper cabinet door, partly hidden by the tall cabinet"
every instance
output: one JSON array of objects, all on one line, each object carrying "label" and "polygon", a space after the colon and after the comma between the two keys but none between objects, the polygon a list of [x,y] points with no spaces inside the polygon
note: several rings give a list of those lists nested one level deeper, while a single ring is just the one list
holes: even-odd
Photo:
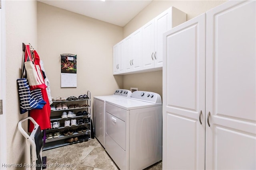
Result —
[{"label": "rightmost white upper cabinet door, partly hidden by the tall cabinet", "polygon": [[172,10],[166,10],[155,18],[155,51],[154,51],[154,67],[163,66],[163,33],[171,29]]}]

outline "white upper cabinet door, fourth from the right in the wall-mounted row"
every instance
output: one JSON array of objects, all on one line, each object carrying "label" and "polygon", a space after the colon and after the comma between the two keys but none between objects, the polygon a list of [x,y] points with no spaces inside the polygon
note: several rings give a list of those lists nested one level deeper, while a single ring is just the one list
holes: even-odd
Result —
[{"label": "white upper cabinet door, fourth from the right in the wall-mounted row", "polygon": [[124,55],[125,72],[130,72],[132,70],[132,36],[124,39]]}]

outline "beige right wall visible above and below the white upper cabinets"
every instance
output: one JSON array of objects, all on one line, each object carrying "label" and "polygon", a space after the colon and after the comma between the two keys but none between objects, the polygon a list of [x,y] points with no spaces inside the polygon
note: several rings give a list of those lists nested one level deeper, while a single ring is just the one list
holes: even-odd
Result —
[{"label": "beige right wall visible above and below the white upper cabinets", "polygon": [[[187,20],[190,20],[224,2],[226,1],[153,0],[152,3],[124,26],[124,38],[171,6],[185,12]],[[162,71],[125,75],[123,87],[125,89],[138,87],[138,90],[152,91],[162,96]]]}]

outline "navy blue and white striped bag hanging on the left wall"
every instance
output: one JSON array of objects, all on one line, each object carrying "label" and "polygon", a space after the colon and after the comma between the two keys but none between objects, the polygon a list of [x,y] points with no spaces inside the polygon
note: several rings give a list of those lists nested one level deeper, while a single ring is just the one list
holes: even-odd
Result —
[{"label": "navy blue and white striped bag hanging on the left wall", "polygon": [[42,109],[46,102],[42,98],[41,89],[31,90],[26,78],[18,78],[18,93],[20,97],[20,114],[31,109]]}]

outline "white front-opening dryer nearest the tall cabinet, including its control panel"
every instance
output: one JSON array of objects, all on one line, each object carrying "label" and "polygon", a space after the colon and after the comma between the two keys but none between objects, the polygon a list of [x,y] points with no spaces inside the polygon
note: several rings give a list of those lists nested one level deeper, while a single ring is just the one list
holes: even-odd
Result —
[{"label": "white front-opening dryer nearest the tall cabinet, including its control panel", "polygon": [[162,100],[153,92],[106,101],[105,149],[121,170],[142,170],[162,160]]}]

